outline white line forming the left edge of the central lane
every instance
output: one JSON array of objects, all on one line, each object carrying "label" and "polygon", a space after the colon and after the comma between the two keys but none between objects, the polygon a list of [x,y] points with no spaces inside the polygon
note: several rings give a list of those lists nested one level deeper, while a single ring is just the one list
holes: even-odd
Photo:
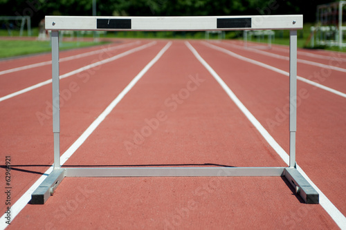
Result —
[{"label": "white line forming the left edge of the central lane", "polygon": [[[101,124],[101,122],[104,120],[104,118],[107,117],[107,115],[109,115],[109,113],[111,113],[113,108],[116,107],[116,105],[129,92],[129,90],[131,90],[131,88],[134,87],[134,85],[139,81],[139,79],[141,77],[143,77],[143,75],[145,75],[145,73],[147,73],[149,68],[151,68],[156,63],[156,61],[158,61],[158,59],[160,59],[160,57],[163,55],[163,53],[165,53],[165,51],[168,48],[170,48],[171,44],[172,44],[172,41],[168,42],[165,45],[165,47],[163,47],[160,50],[160,52],[158,52],[158,54],[154,57],[154,59],[152,59],[152,61],[150,61],[143,68],[143,70],[140,70],[140,73],[138,73],[138,75],[136,75],[136,77],[134,77],[134,79],[131,80],[131,82],[122,90],[122,92],[116,97],[116,99],[114,99],[113,102],[111,102],[111,104],[109,104],[109,106],[107,106],[107,108],[98,116],[98,118],[96,118],[95,121],[93,121],[93,123],[88,128],[86,128],[86,131],[84,131],[84,133],[78,138],[78,140],[76,140],[69,147],[69,149],[66,150],[66,152],[60,157],[60,162],[62,165],[84,143],[86,138],[88,138],[91,135],[91,133],[93,133],[93,131],[95,131],[95,128],[97,128]],[[52,155],[52,157],[53,157],[53,155]],[[18,213],[22,209],[24,209],[24,207],[26,207],[26,204],[28,204],[28,202],[31,200],[31,194],[37,189],[39,184],[41,184],[44,181],[44,179],[47,178],[48,174],[51,173],[51,171],[53,171],[53,165],[46,172],[44,172],[44,175],[42,175],[33,184],[33,186],[31,186],[30,189],[28,189],[28,191],[26,191],[26,193],[24,193],[24,195],[22,195],[21,198],[19,198],[19,200],[17,200],[17,202],[15,202],[15,204],[12,205],[12,207],[11,207],[12,220],[15,219],[15,217],[18,215]],[[6,222],[5,222],[5,220],[6,220],[5,216],[6,216],[6,214],[3,214],[1,216],[0,229],[6,229],[6,227],[8,226],[8,224],[6,224]]]}]

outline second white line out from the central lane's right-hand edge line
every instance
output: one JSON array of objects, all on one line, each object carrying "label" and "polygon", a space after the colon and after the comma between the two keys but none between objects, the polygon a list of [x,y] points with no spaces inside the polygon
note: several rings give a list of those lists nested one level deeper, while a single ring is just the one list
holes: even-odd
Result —
[{"label": "second white line out from the central lane's right-hand edge line", "polygon": [[[226,44],[228,46],[244,50],[244,48],[242,46],[238,46],[238,45],[235,45],[235,44],[229,44],[229,43],[226,43]],[[257,52],[257,53],[259,53],[261,55],[266,55],[268,57],[275,57],[277,59],[282,59],[282,60],[289,61],[289,57],[282,56],[282,55],[277,55],[277,54],[272,53],[272,52],[266,52],[264,50],[257,50],[257,49],[252,49],[252,48],[249,48],[247,50],[249,50],[251,52]],[[331,60],[331,59],[334,59],[334,57],[329,57],[329,60]],[[340,67],[337,67],[337,66],[329,66],[329,65],[326,65],[326,64],[320,64],[320,63],[315,62],[315,61],[308,61],[308,60],[304,60],[304,59],[297,59],[297,62],[302,63],[302,64],[311,65],[311,66],[318,66],[318,67],[321,67],[321,68],[328,68],[328,69],[331,69],[331,70],[336,70],[336,71],[340,71],[340,72],[346,73],[346,69],[345,68],[340,68]]]}]

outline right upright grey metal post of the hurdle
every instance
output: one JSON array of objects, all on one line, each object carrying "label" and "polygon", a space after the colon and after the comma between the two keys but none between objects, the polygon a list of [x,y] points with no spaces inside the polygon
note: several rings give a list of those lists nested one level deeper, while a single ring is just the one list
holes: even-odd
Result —
[{"label": "right upright grey metal post of the hurdle", "polygon": [[295,168],[297,131],[297,30],[289,33],[289,166]]}]

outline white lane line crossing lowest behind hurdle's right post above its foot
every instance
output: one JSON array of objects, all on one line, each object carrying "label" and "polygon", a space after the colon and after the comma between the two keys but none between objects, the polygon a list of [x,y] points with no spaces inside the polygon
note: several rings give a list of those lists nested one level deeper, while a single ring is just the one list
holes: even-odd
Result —
[{"label": "white lane line crossing lowest behind hurdle's right post above its foot", "polygon": [[[289,76],[289,72],[286,72],[286,71],[284,71],[284,70],[280,70],[280,68],[275,68],[275,67],[273,67],[273,66],[269,66],[269,65],[267,65],[267,64],[264,64],[264,63],[262,63],[262,62],[260,62],[260,61],[256,61],[256,60],[254,60],[254,59],[250,59],[250,58],[248,58],[248,57],[243,57],[242,55],[238,55],[238,54],[236,54],[235,52],[232,52],[232,51],[230,51],[230,50],[226,50],[225,48],[221,48],[221,47],[219,47],[219,46],[215,46],[215,45],[209,44],[209,43],[206,42],[206,41],[203,41],[202,43],[205,44],[206,46],[209,46],[210,48],[213,48],[213,49],[215,49],[215,50],[219,50],[219,51],[221,51],[221,52],[224,52],[224,53],[226,53],[227,55],[230,55],[230,56],[235,57],[235,58],[237,58],[237,59],[240,59],[240,60],[242,60],[242,61],[247,61],[247,62],[249,62],[249,63],[251,63],[251,64],[255,64],[255,65],[257,65],[257,66],[261,66],[261,67],[263,67],[263,68],[267,68],[267,69],[269,69],[269,70],[273,70],[273,71],[275,71],[276,73],[280,73],[280,74],[282,74],[282,75]],[[346,93],[342,93],[342,92],[340,92],[340,91],[338,91],[338,90],[334,90],[334,88],[329,88],[329,87],[327,87],[327,86],[324,86],[324,85],[319,84],[319,83],[317,83],[317,82],[313,82],[313,81],[311,81],[311,80],[309,80],[309,79],[306,79],[306,78],[300,77],[300,76],[297,76],[297,79],[300,80],[300,81],[302,81],[302,82],[305,82],[305,83],[307,83],[307,84],[311,84],[311,85],[313,85],[313,86],[315,86],[315,87],[317,87],[317,88],[321,88],[321,89],[323,89],[323,90],[327,90],[327,91],[330,92],[330,93],[334,93],[334,94],[336,94],[336,95],[339,95],[339,96],[341,96],[341,97],[345,97],[345,98],[346,98]]]}]

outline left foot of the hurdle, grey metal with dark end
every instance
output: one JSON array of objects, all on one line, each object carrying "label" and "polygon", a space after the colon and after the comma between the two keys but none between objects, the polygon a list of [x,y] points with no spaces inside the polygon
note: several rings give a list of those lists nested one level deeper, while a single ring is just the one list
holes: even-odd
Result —
[{"label": "left foot of the hurdle, grey metal with dark end", "polygon": [[51,195],[53,195],[57,186],[65,178],[64,169],[53,169],[48,177],[31,194],[31,204],[44,204]]}]

